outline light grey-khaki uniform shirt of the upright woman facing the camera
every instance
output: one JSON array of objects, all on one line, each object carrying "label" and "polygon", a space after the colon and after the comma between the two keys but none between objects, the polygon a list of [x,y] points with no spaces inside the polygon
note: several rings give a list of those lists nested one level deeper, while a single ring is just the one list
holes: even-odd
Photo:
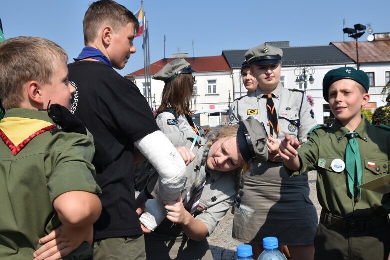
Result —
[{"label": "light grey-khaki uniform shirt of the upright woman facing the camera", "polygon": [[[305,93],[300,90],[283,88],[279,83],[272,94],[274,94],[272,100],[278,114],[279,142],[285,134],[289,134],[304,143],[309,130],[317,124],[313,109]],[[265,95],[265,92],[257,86],[255,92],[233,101],[229,123],[237,124],[240,120],[253,116],[264,123],[269,134],[270,124],[268,123],[266,110],[267,98],[263,98],[263,95]],[[299,113],[301,104],[301,113]],[[298,122],[300,123],[299,126]]]}]

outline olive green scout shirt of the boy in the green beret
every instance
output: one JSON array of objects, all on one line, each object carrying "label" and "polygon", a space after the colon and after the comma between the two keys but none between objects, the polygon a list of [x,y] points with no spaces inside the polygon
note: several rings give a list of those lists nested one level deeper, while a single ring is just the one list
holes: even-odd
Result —
[{"label": "olive green scout shirt of the boy in the green beret", "polygon": [[[360,189],[351,197],[347,183],[347,171],[332,169],[332,161],[345,162],[348,129],[336,119],[333,126],[322,127],[308,135],[309,141],[298,149],[302,168],[293,176],[317,170],[317,196],[321,206],[332,214],[346,218],[369,219],[390,213],[390,194]],[[355,129],[361,163],[362,184],[389,174],[390,131],[373,126],[363,116]]]}]

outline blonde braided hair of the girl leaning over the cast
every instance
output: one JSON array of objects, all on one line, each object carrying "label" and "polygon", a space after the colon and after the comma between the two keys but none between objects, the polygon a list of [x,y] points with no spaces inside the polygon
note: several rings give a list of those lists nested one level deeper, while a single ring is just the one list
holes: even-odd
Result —
[{"label": "blonde braided hair of the girl leaning over the cast", "polygon": [[[210,147],[220,138],[224,137],[235,137],[237,136],[239,125],[228,125],[228,126],[220,126],[215,128],[213,131],[209,132],[206,145],[203,150],[201,165],[206,165],[207,156],[210,151]],[[242,220],[247,223],[252,215],[255,213],[255,210],[241,203],[241,197],[244,194],[244,173],[250,170],[251,164],[248,164],[243,160],[243,165],[237,168],[236,173],[236,197],[234,198],[234,207],[236,207],[240,211],[240,216]],[[197,179],[195,180],[195,187],[201,185],[206,179],[206,172],[198,170]]]}]

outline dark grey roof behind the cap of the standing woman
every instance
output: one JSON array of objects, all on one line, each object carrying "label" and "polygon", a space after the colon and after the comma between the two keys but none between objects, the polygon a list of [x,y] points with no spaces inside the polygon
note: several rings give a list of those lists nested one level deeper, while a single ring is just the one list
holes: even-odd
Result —
[{"label": "dark grey roof behind the cap of the standing woman", "polygon": [[[223,50],[222,55],[225,56],[231,68],[241,68],[247,50]],[[353,59],[334,45],[286,47],[282,50],[284,67],[354,63]]]}]

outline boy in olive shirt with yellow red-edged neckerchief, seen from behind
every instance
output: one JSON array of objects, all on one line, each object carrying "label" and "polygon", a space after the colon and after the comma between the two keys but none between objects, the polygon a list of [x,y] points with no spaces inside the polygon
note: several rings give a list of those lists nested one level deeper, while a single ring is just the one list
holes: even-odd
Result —
[{"label": "boy in olive shirt with yellow red-edged neckerchief, seen from behind", "polygon": [[[52,116],[59,108],[72,121],[67,109],[74,88],[66,61],[65,51],[43,38],[15,37],[0,44],[0,98],[6,110],[0,122],[1,260],[92,257],[84,241],[92,243],[92,224],[101,211],[93,140],[83,126],[84,134],[66,132],[69,125],[58,129],[52,120],[64,122]],[[78,237],[68,241],[54,229]],[[53,241],[41,246],[46,235]],[[40,247],[38,256],[34,251]]]}]

